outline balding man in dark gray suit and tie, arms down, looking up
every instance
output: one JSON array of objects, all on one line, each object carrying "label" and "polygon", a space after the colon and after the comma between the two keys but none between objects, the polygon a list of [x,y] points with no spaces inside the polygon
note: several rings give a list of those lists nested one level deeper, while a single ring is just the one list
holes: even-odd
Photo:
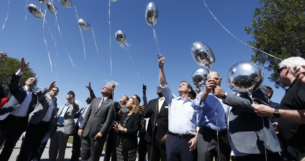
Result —
[{"label": "balding man in dark gray suit and tie, arms down, looking up", "polygon": [[109,98],[114,88],[105,85],[102,98],[94,98],[78,130],[81,140],[81,160],[98,161],[114,119],[113,100]]}]

